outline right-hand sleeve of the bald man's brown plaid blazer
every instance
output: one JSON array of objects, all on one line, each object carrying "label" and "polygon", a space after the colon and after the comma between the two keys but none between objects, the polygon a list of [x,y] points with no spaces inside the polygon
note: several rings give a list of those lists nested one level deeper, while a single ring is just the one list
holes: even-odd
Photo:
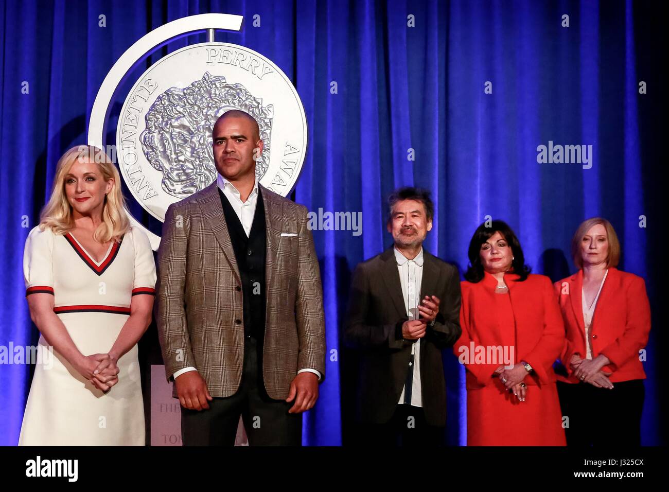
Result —
[{"label": "right-hand sleeve of the bald man's brown plaid blazer", "polygon": [[320,267],[314,238],[307,227],[307,210],[300,219],[298,233],[298,287],[295,298],[298,331],[298,371],[315,369],[320,372],[320,382],[325,379],[325,315]]}]

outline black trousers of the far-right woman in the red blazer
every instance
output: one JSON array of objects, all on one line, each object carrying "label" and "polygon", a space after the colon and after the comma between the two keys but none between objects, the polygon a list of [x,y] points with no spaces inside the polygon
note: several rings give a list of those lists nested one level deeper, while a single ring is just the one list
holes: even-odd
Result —
[{"label": "black trousers of the far-right woman in the red blazer", "polygon": [[558,381],[567,446],[640,446],[644,409],[643,380],[613,383],[613,390],[589,383]]}]

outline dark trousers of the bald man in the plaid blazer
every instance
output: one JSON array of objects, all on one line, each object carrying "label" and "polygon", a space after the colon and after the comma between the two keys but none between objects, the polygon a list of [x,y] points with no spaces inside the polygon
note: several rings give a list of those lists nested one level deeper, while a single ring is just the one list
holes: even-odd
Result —
[{"label": "dark trousers of the bald man in the plaid blazer", "polygon": [[214,398],[209,410],[181,407],[184,446],[233,446],[240,415],[250,446],[300,446],[302,414],[289,414],[294,402],[273,400],[262,381],[262,347],[246,337],[240,388],[227,398]]}]

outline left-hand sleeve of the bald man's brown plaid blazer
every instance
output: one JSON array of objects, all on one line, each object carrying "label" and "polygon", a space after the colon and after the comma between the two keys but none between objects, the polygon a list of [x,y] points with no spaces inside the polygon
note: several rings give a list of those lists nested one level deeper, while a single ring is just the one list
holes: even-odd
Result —
[{"label": "left-hand sleeve of the bald man's brown plaid blazer", "polygon": [[[183,215],[181,215],[183,214]],[[187,230],[185,212],[177,213],[174,204],[167,208],[163,238],[158,249],[158,335],[163,351],[167,380],[180,369],[197,367],[191,351],[185,312]]]}]

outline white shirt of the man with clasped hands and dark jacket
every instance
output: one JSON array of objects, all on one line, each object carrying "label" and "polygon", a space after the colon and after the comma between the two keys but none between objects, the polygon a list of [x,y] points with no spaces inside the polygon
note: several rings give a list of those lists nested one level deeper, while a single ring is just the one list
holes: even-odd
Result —
[{"label": "white shirt of the man with clasped hands and dark jacket", "polygon": [[[402,297],[404,298],[404,307],[407,310],[409,319],[418,319],[418,303],[420,301],[420,287],[423,280],[423,248],[413,260],[409,260],[395,248],[395,260],[397,260],[397,270],[399,270],[399,282],[402,285]],[[413,382],[411,383],[411,405],[423,406],[420,387],[420,339],[411,344],[411,353],[413,353]],[[399,396],[399,403],[404,403],[404,391]]]}]

